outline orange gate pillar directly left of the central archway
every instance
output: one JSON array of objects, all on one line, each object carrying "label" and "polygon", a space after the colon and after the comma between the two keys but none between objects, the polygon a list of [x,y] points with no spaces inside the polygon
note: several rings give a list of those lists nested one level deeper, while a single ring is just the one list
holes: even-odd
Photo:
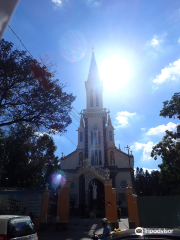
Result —
[{"label": "orange gate pillar directly left of the central archway", "polygon": [[55,225],[56,230],[67,230],[69,222],[69,186],[70,182],[67,181],[61,190],[58,191],[58,204],[57,204],[57,222]]}]

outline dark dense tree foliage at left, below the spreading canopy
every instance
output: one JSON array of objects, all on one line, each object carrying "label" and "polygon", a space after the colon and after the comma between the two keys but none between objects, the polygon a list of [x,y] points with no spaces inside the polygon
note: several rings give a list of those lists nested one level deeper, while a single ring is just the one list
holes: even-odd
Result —
[{"label": "dark dense tree foliage at left, below the spreading canopy", "polygon": [[11,127],[9,137],[2,138],[0,146],[3,187],[45,189],[49,176],[60,169],[52,137],[38,134],[30,126]]}]

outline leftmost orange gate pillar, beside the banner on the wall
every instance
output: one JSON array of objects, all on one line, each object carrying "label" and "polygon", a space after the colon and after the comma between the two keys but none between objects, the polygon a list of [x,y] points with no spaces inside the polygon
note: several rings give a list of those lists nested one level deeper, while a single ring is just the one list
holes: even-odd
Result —
[{"label": "leftmost orange gate pillar, beside the banner on the wall", "polygon": [[44,190],[43,191],[40,230],[46,230],[46,228],[47,228],[47,214],[48,214],[48,208],[49,208],[49,194],[50,194],[50,190]]}]

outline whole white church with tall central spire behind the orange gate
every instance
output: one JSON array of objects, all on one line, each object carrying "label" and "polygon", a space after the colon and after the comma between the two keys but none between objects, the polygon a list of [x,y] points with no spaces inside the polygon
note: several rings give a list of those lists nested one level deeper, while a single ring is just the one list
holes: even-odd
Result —
[{"label": "whole white church with tall central spire behind the orange gate", "polygon": [[[127,207],[125,189],[133,187],[134,157],[117,148],[114,142],[114,127],[110,112],[103,107],[103,82],[100,80],[94,52],[86,89],[86,109],[81,111],[78,128],[78,145],[74,152],[61,158],[61,169],[66,179],[73,179],[89,165],[91,171],[112,179],[112,187],[116,188],[117,205]],[[104,185],[90,172],[81,174],[70,185],[70,206],[79,209],[84,206],[88,211],[93,210],[98,217],[104,216],[105,199]]]}]

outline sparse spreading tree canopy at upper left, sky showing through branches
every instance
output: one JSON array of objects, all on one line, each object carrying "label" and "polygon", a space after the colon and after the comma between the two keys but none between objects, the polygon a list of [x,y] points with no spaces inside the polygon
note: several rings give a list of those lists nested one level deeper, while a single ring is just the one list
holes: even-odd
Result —
[{"label": "sparse spreading tree canopy at upper left, sky showing through branches", "polygon": [[28,123],[41,131],[65,131],[75,97],[63,89],[43,62],[1,40],[0,127]]}]

